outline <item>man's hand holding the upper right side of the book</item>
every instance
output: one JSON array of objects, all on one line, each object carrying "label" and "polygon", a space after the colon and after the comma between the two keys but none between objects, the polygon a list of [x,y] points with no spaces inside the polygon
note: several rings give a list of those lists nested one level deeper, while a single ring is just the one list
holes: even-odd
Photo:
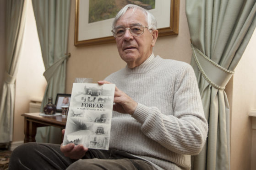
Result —
[{"label": "man's hand holding the upper right side of the book", "polygon": [[[108,81],[98,81],[99,85],[103,84],[111,84]],[[114,91],[114,106],[113,110],[120,113],[127,113],[132,115],[137,107],[136,101],[132,100],[132,98],[126,95],[123,91],[119,90],[115,87]]]}]

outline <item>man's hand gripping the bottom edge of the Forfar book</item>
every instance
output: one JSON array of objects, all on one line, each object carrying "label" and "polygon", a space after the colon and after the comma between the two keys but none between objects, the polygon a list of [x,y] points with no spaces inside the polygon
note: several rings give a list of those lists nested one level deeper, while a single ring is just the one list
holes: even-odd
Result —
[{"label": "man's hand gripping the bottom edge of the Forfar book", "polygon": [[[64,135],[65,129],[63,129],[61,133]],[[88,148],[84,147],[82,144],[75,146],[74,143],[69,143],[63,146],[61,143],[60,150],[66,157],[71,159],[81,159],[87,152]]]}]

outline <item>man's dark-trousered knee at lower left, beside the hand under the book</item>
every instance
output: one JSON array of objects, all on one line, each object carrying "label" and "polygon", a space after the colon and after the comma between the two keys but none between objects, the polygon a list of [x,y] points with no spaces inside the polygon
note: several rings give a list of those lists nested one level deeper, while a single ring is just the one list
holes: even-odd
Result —
[{"label": "man's dark-trousered knee at lower left, beside the hand under the book", "polygon": [[66,169],[72,163],[60,153],[60,145],[51,143],[24,143],[14,149],[9,170]]}]

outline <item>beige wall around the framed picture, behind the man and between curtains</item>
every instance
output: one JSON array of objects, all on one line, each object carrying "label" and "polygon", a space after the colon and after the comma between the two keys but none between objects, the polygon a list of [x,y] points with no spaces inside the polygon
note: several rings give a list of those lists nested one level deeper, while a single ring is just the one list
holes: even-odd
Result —
[{"label": "beige wall around the framed picture, behind the man and between curtains", "polygon": [[[110,31],[110,30],[109,30]],[[75,0],[71,1],[71,19],[67,62],[66,92],[71,93],[76,77],[93,78],[93,82],[103,80],[107,75],[125,67],[120,59],[115,43],[88,47],[74,46]],[[178,36],[158,37],[154,53],[163,58],[172,58],[190,63],[190,34],[185,16],[185,0],[180,0],[180,29]]]}]

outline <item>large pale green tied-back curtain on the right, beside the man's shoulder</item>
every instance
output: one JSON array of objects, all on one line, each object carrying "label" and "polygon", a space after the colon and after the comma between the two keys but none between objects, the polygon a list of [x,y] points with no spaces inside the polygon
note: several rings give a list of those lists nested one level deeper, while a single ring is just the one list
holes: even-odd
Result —
[{"label": "large pale green tied-back curtain on the right, beside the man's shoulder", "polygon": [[207,142],[192,170],[229,170],[229,102],[224,91],[256,27],[256,0],[186,0],[192,59]]}]

